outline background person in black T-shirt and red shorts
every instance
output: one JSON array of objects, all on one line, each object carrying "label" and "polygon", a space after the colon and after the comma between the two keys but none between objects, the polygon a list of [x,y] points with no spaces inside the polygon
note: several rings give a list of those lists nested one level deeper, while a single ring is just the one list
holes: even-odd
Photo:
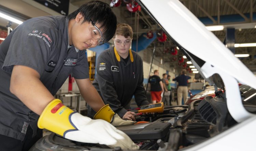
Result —
[{"label": "background person in black T-shirt and red shorts", "polygon": [[161,93],[164,91],[164,89],[158,70],[155,70],[154,75],[148,78],[148,84],[150,84],[152,103],[161,102]]}]

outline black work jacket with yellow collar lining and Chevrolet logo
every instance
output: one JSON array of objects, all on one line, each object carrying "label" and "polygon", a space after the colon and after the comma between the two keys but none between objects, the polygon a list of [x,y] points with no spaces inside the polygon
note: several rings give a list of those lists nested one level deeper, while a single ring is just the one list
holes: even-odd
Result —
[{"label": "black work jacket with yellow collar lining and Chevrolet logo", "polygon": [[[103,51],[97,59],[97,74],[93,82],[104,103],[109,104],[120,117],[130,108],[133,95],[138,106],[149,104],[143,87],[142,59],[131,50],[129,57],[125,63],[113,47]],[[88,116],[93,118],[96,112],[87,107]]]}]

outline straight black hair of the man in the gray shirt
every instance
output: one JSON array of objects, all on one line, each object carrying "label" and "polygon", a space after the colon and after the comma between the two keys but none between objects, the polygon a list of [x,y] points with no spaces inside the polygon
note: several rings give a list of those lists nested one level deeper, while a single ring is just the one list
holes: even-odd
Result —
[{"label": "straight black hair of the man in the gray shirt", "polygon": [[109,4],[101,1],[90,1],[83,4],[76,11],[68,15],[69,19],[75,19],[76,15],[81,13],[84,17],[84,22],[90,22],[93,20],[95,24],[99,24],[98,27],[102,32],[102,38],[104,43],[113,38],[116,31],[116,16],[111,10]]}]

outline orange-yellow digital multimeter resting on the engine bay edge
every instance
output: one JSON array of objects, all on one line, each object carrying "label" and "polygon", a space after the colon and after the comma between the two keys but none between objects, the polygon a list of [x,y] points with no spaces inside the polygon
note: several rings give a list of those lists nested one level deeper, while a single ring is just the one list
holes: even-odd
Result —
[{"label": "orange-yellow digital multimeter resting on the engine bay edge", "polygon": [[157,112],[163,112],[163,102],[155,103],[155,104],[149,104],[144,105],[140,107],[139,113],[157,113]]}]

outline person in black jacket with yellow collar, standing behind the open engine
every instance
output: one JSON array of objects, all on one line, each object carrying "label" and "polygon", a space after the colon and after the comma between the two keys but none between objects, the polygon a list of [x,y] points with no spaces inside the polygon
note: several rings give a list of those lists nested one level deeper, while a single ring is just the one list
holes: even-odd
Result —
[{"label": "person in black jacket with yellow collar, standing behind the open engine", "polygon": [[[97,74],[93,86],[103,101],[123,119],[136,120],[130,108],[134,95],[137,105],[148,105],[143,87],[143,63],[141,57],[131,51],[132,29],[128,24],[118,24],[114,35],[114,47],[103,51],[97,59]],[[96,112],[88,106],[88,116]]]}]

